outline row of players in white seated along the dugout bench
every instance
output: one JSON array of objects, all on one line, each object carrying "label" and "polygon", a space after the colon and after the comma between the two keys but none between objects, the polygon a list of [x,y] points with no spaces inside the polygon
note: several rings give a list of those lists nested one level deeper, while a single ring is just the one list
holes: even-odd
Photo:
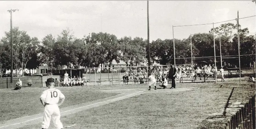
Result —
[{"label": "row of players in white seated along the dugout bench", "polygon": [[[59,79],[60,82],[60,86],[64,86],[64,76],[62,78]],[[86,81],[86,77],[83,76],[81,78],[81,76],[74,76],[73,78],[69,78],[68,77],[68,84],[67,86],[84,86],[84,82],[88,82]]]}]

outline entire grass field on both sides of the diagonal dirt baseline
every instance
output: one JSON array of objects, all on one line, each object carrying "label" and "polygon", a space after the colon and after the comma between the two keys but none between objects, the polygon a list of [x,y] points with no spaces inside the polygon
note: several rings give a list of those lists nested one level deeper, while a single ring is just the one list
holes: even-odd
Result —
[{"label": "entire grass field on both sides of the diagonal dirt baseline", "polygon": [[[66,129],[218,129],[224,127],[226,121],[238,110],[235,105],[244,104],[255,95],[255,84],[240,85],[221,82],[218,84],[179,83],[176,89],[151,91],[146,90],[148,88],[146,85],[58,88],[67,97],[60,108],[123,94],[132,90],[143,91],[143,94],[138,96],[74,114],[62,115],[61,121]],[[24,89],[35,92],[1,92],[1,99],[5,99],[0,104],[1,114],[4,114],[0,121],[43,112],[39,96],[44,89],[46,88]],[[81,92],[78,90],[88,91]],[[230,95],[232,90],[233,93]],[[21,101],[21,98],[26,98],[31,102],[24,99]],[[226,106],[228,99],[230,101]],[[28,107],[28,103],[33,106]],[[17,108],[20,110],[16,111]],[[40,126],[41,122],[38,122],[24,125],[20,129],[34,129],[40,128]],[[50,126],[50,128],[53,127]]]}]

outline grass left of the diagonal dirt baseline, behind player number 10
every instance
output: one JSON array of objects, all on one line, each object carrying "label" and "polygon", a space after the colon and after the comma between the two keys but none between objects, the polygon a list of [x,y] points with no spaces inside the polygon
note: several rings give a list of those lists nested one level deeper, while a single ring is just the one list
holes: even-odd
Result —
[{"label": "grass left of the diagonal dirt baseline, behind player number 10", "polygon": [[[71,89],[69,87],[57,88],[61,91]],[[44,107],[39,98],[42,92],[46,89],[47,88],[23,88],[17,92],[1,92],[0,122],[42,113],[44,111]],[[0,91],[13,90],[1,89]],[[62,93],[65,95],[66,99],[60,108],[118,95],[117,93],[104,93],[100,91],[63,91]]]}]

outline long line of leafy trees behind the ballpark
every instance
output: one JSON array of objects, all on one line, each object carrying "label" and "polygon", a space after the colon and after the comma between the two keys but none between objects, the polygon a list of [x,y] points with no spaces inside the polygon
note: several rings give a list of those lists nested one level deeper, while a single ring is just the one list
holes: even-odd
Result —
[{"label": "long line of leafy trees behind the ballpark", "polygon": [[[238,55],[237,34],[232,33],[236,25],[232,23],[222,24],[215,28],[215,52],[220,56],[220,41],[222,56]],[[240,34],[241,55],[255,54],[255,37],[248,35],[248,28],[241,29]],[[219,35],[219,32],[221,35]],[[207,34],[196,34],[191,37],[193,57],[214,56],[213,29]],[[175,57],[179,63],[190,63],[191,44],[190,37],[186,39],[174,39]],[[0,69],[9,70],[11,63],[10,32],[5,32],[5,37],[0,40]],[[173,39],[157,39],[149,44],[151,63],[161,65],[174,64]],[[69,29],[63,30],[57,37],[46,35],[40,42],[36,37],[30,37],[26,31],[13,28],[13,69],[33,69],[46,64],[49,69],[66,65],[74,68],[100,67],[105,63],[111,66],[113,60],[119,63],[121,60],[127,66],[147,63],[147,40],[140,37],[122,37],[118,39],[114,34],[89,33],[84,38],[78,39]],[[206,61],[214,61],[205,59]],[[255,55],[241,57],[245,64],[255,60]],[[202,60],[195,60],[202,61]],[[237,58],[230,59],[236,63]],[[23,72],[24,75],[24,72]]]}]

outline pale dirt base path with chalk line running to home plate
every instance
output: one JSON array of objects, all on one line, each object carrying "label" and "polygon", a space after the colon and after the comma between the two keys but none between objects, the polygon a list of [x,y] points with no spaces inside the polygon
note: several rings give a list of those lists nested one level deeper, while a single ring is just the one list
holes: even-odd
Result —
[{"label": "pale dirt base path with chalk line running to home plate", "polygon": [[[119,95],[96,100],[96,101],[91,101],[87,103],[82,103],[82,104],[77,104],[73,106],[69,106],[66,108],[61,108],[60,112],[62,116],[67,116],[69,114],[74,114],[83,110],[87,110],[90,108],[95,108],[101,105],[105,105],[111,102],[123,100],[126,98],[130,98],[133,96],[141,95],[144,93],[156,93],[156,92],[182,92],[182,91],[187,91],[191,90],[191,88],[176,88],[176,89],[157,89],[157,90],[151,90],[148,91],[145,88],[134,88],[134,89],[114,89],[114,90],[99,90],[102,92],[118,92],[120,93]],[[74,91],[74,90],[72,90]],[[82,91],[82,90],[79,90]],[[88,91],[88,90],[86,90]],[[93,90],[97,91],[97,90]],[[0,91],[0,92],[17,92],[17,91]],[[20,92],[30,92],[30,91],[20,91]],[[34,91],[31,91],[34,92]],[[41,91],[38,91],[41,92]],[[63,91],[63,92],[68,92],[68,91]],[[26,125],[31,125],[35,123],[41,123],[43,121],[43,113],[40,114],[35,114],[31,116],[25,116],[21,118],[16,118],[16,119],[11,119],[8,121],[4,121],[0,123],[0,129],[12,129],[12,128],[21,128]]]}]

